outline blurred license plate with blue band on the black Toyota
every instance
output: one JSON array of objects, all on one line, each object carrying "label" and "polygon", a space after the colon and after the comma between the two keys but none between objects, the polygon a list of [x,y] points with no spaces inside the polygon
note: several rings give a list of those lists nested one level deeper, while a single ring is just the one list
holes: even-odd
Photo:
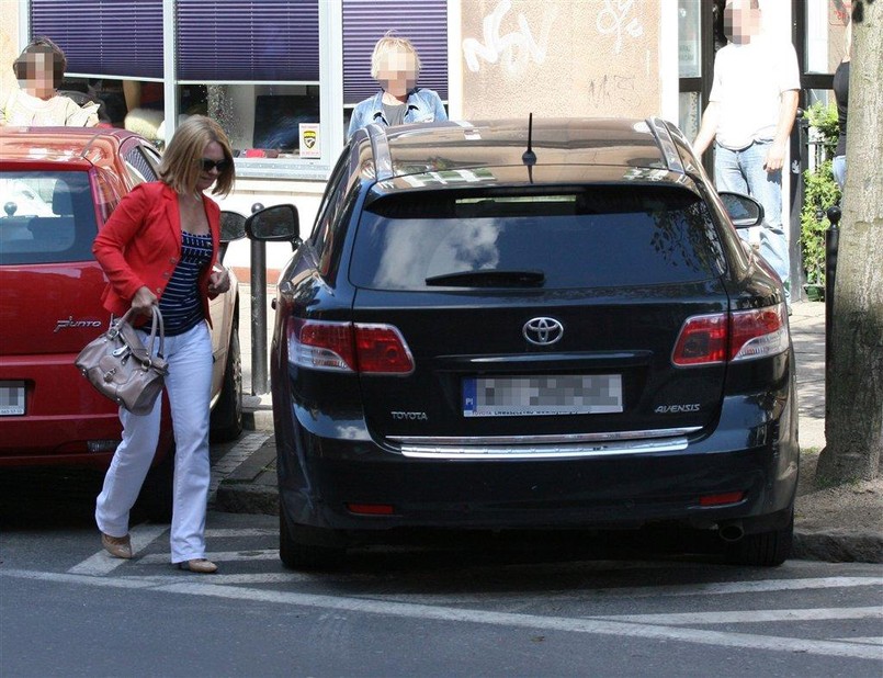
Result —
[{"label": "blurred license plate with blue band on the black Toyota", "polygon": [[466,377],[464,417],[598,415],[622,411],[622,375]]}]

